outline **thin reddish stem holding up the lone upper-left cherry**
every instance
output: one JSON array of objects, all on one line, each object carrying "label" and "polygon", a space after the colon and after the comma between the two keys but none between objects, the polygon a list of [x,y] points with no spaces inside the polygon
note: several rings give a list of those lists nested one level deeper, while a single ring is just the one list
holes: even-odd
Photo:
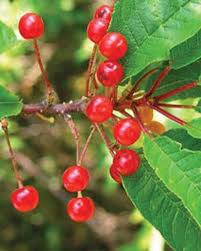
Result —
[{"label": "thin reddish stem holding up the lone upper-left cherry", "polygon": [[46,73],[46,71],[44,69],[44,66],[43,66],[43,62],[42,62],[42,59],[41,59],[41,54],[40,54],[38,42],[37,42],[36,39],[33,40],[33,47],[34,47],[36,59],[38,61],[38,65],[39,65],[41,73],[42,73],[42,78],[43,78],[45,87],[47,89],[47,93],[48,93],[48,95],[52,95],[52,93],[54,93],[54,89],[52,87],[52,84],[50,83],[50,81],[47,78],[47,73]]}]

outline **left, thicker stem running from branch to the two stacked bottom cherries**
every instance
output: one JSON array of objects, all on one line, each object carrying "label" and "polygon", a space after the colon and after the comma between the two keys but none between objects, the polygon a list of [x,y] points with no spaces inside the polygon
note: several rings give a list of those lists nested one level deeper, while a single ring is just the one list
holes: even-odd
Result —
[{"label": "left, thicker stem running from branch to the two stacked bottom cherries", "polygon": [[79,163],[79,158],[80,158],[80,134],[79,131],[72,119],[72,117],[67,114],[64,115],[64,120],[67,123],[68,127],[70,128],[71,134],[75,140],[75,144],[76,144],[76,163],[78,165]]}]

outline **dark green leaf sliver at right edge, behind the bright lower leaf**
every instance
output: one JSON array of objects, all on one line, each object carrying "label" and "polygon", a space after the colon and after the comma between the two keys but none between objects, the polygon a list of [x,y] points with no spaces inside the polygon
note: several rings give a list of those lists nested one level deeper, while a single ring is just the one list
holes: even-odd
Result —
[{"label": "dark green leaf sliver at right edge, behind the bright lower leaf", "polygon": [[196,139],[189,135],[185,129],[172,129],[164,134],[171,138],[174,141],[182,144],[182,148],[186,148],[192,151],[200,151],[201,150],[201,139]]}]

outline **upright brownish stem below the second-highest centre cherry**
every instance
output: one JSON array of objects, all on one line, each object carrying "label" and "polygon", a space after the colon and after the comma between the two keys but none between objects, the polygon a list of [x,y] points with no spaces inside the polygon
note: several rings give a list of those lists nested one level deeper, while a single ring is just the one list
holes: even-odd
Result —
[{"label": "upright brownish stem below the second-highest centre cherry", "polygon": [[[93,47],[92,55],[89,60],[89,65],[88,65],[88,70],[87,70],[87,80],[86,80],[86,90],[85,90],[85,96],[89,97],[90,96],[90,84],[91,84],[91,77],[93,76],[93,67],[94,63],[96,61],[96,54],[97,54],[97,45],[95,44]],[[95,89],[96,89],[96,84],[95,84]]]}]

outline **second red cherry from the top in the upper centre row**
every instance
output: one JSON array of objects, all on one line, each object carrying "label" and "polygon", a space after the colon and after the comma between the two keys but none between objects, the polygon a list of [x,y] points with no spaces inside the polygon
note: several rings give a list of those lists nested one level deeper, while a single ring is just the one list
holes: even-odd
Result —
[{"label": "second red cherry from the top in the upper centre row", "polygon": [[88,38],[96,44],[99,43],[107,33],[108,26],[109,23],[103,18],[91,20],[87,26]]}]

